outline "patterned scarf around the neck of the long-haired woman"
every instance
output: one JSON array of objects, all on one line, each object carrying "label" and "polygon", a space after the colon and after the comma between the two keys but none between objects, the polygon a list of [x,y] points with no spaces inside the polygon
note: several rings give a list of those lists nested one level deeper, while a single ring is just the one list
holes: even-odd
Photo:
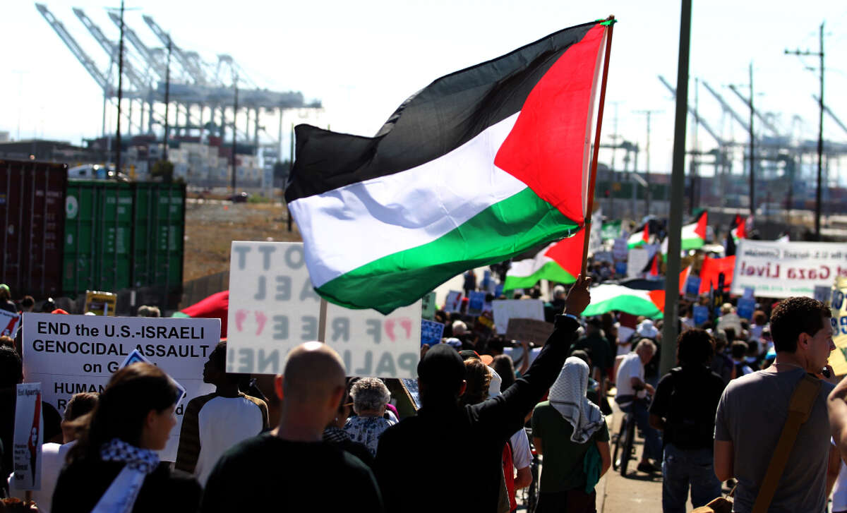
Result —
[{"label": "patterned scarf around the neck of the long-haired woman", "polygon": [[158,466],[158,455],[149,449],[112,439],[100,448],[102,461],[122,461],[126,465],[109,485],[91,513],[130,513],[147,474]]}]

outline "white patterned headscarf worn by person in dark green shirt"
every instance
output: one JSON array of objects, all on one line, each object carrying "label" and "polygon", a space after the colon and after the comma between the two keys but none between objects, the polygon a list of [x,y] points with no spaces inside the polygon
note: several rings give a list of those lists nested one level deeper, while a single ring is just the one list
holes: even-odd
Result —
[{"label": "white patterned headscarf worn by person in dark green shirt", "polygon": [[571,356],[550,388],[550,404],[573,426],[571,440],[577,444],[587,442],[604,422],[600,408],[586,399],[587,391],[588,364]]}]

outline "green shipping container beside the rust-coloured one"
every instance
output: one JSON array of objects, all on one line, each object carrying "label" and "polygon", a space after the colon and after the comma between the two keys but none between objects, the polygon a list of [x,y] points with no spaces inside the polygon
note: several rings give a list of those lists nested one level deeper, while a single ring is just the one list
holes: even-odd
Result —
[{"label": "green shipping container beside the rust-coloured one", "polygon": [[162,306],[179,301],[185,185],[70,179],[65,212],[66,295],[152,288]]}]

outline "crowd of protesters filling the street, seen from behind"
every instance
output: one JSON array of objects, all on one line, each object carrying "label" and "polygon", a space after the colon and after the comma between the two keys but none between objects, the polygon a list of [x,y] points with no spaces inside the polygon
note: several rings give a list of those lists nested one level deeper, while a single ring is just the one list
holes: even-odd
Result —
[{"label": "crowd of protesters filling the street, seen from behind", "polygon": [[[592,277],[606,279],[604,268],[592,266]],[[298,346],[274,378],[225,372],[222,341],[202,376],[215,391],[187,401],[174,464],[157,451],[174,426],[178,391],[157,367],[125,367],[99,396],[75,395],[64,418],[45,404],[42,490],[31,510],[506,513],[538,479],[534,450],[543,464],[535,510],[588,513],[612,466],[613,398],[645,439],[636,471],[662,475],[663,511],[685,511],[689,494],[694,507],[706,505],[722,483],[735,488],[734,510],[752,511],[794,388],[811,375],[822,384],[766,510],[821,511],[832,493],[833,511],[847,511],[847,383],[824,376],[834,347],[828,307],[805,297],[761,301],[745,319],[728,302],[695,326],[694,305],[681,301],[677,367],[662,376],[662,321],[582,317],[592,277],[551,288],[545,317],[555,328],[540,347],[495,334],[490,312],[471,315],[467,300],[457,312],[436,311],[444,338],[422,348],[412,415],[397,404],[395,383],[346,378],[326,345]],[[467,295],[481,284],[468,273],[464,285]],[[8,287],[0,295],[19,310]],[[512,297],[541,299],[541,291]],[[19,304],[35,307],[31,298]],[[155,307],[138,314],[160,315]],[[0,342],[0,443],[8,447],[24,375],[19,345]],[[8,450],[0,469],[11,472]],[[11,485],[6,493],[21,495]]]}]

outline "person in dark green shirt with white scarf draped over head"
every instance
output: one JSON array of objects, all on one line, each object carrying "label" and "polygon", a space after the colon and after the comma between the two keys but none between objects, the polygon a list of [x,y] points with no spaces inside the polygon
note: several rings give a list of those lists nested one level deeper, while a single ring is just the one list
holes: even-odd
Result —
[{"label": "person in dark green shirt with white scarf draped over head", "polygon": [[533,411],[535,450],[544,455],[536,512],[595,510],[594,487],[612,465],[612,456],[606,420],[585,397],[588,378],[584,361],[567,358],[549,400]]}]

